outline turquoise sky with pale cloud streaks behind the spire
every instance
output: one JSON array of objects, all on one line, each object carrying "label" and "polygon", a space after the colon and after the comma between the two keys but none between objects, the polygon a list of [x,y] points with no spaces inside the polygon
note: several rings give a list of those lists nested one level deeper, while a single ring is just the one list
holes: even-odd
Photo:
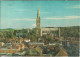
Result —
[{"label": "turquoise sky with pale cloud streaks behind the spire", "polygon": [[1,1],[0,29],[35,28],[38,4],[41,27],[80,26],[80,1]]}]

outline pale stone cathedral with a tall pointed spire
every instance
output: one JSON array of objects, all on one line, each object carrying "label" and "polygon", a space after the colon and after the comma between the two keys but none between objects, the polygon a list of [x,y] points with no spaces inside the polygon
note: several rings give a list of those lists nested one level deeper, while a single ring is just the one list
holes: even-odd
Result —
[{"label": "pale stone cathedral with a tall pointed spire", "polygon": [[[54,28],[54,27],[41,27],[41,18],[40,18],[40,11],[39,11],[39,5],[38,5],[38,11],[37,11],[37,19],[36,19],[36,35],[37,37],[41,37],[43,35],[53,34],[56,36],[56,33],[58,34],[58,38],[60,38],[60,29]],[[57,31],[57,32],[56,32]]]}]

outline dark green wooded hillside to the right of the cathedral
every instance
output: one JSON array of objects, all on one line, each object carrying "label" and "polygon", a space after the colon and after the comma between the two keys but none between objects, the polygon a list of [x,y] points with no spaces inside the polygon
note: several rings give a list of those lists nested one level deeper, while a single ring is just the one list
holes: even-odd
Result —
[{"label": "dark green wooded hillside to the right of the cathedral", "polygon": [[79,37],[79,27],[62,27],[61,36],[67,37]]}]

